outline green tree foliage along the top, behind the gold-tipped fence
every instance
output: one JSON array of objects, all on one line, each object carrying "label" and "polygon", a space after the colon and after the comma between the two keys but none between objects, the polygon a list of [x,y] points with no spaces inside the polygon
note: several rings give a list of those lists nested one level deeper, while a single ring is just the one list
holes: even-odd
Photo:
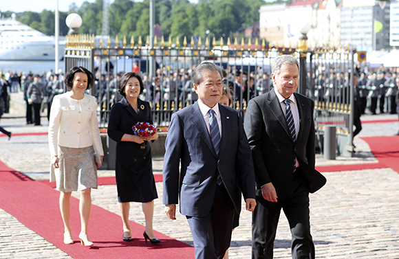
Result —
[{"label": "green tree foliage along the top, behind the gold-tipped fence", "polygon": [[[277,0],[272,3],[290,3]],[[205,32],[209,36],[233,36],[241,27],[252,26],[259,21],[259,8],[270,4],[265,0],[198,0],[191,3],[188,0],[157,0],[155,1],[155,23],[162,30],[165,41],[169,36],[180,41],[187,36],[188,43],[191,36],[200,36],[204,42]],[[94,3],[85,1],[78,7],[76,3],[69,5],[68,12],[60,12],[60,34],[65,35],[69,28],[65,25],[66,16],[76,12],[82,16],[83,23],[80,34],[102,33],[103,0]],[[109,34],[120,38],[133,35],[135,41],[142,36],[145,41],[149,35],[149,0],[114,0],[109,5]],[[8,14],[8,12],[3,12]],[[54,35],[54,12],[43,10],[41,13],[22,12],[17,19],[26,25],[34,27],[47,35]]]}]

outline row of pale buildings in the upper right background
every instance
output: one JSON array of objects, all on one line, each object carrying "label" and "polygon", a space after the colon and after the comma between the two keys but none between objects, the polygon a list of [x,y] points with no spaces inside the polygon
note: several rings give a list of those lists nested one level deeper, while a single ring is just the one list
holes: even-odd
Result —
[{"label": "row of pale buildings in the upper right background", "polygon": [[[396,6],[397,36],[391,42],[391,3],[376,0],[294,0],[289,5],[263,5],[260,13],[260,36],[267,41],[296,43],[305,23],[312,25],[309,44],[347,45],[360,51],[391,49],[399,45],[399,1]],[[282,38],[283,37],[283,38]]]}]

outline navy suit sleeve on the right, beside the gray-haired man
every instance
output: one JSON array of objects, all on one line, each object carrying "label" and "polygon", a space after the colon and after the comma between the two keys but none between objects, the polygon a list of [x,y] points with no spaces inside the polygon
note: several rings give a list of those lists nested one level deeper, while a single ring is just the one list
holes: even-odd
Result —
[{"label": "navy suit sleeve on the right, beside the gray-haired man", "polygon": [[252,155],[248,139],[246,137],[241,115],[238,114],[238,148],[237,167],[239,172],[239,183],[244,199],[255,199],[255,174]]}]

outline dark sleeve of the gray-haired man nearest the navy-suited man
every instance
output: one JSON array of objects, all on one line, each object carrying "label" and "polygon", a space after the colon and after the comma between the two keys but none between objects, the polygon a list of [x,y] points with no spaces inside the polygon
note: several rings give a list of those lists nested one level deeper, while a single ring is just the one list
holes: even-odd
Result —
[{"label": "dark sleeve of the gray-haired man nearest the navy-suited man", "polygon": [[268,170],[266,169],[265,161],[263,161],[261,149],[263,132],[266,131],[264,128],[263,114],[259,104],[254,100],[248,102],[244,128],[252,151],[252,159],[255,167],[255,179],[258,188],[260,188],[262,185],[270,183],[271,179]]}]

